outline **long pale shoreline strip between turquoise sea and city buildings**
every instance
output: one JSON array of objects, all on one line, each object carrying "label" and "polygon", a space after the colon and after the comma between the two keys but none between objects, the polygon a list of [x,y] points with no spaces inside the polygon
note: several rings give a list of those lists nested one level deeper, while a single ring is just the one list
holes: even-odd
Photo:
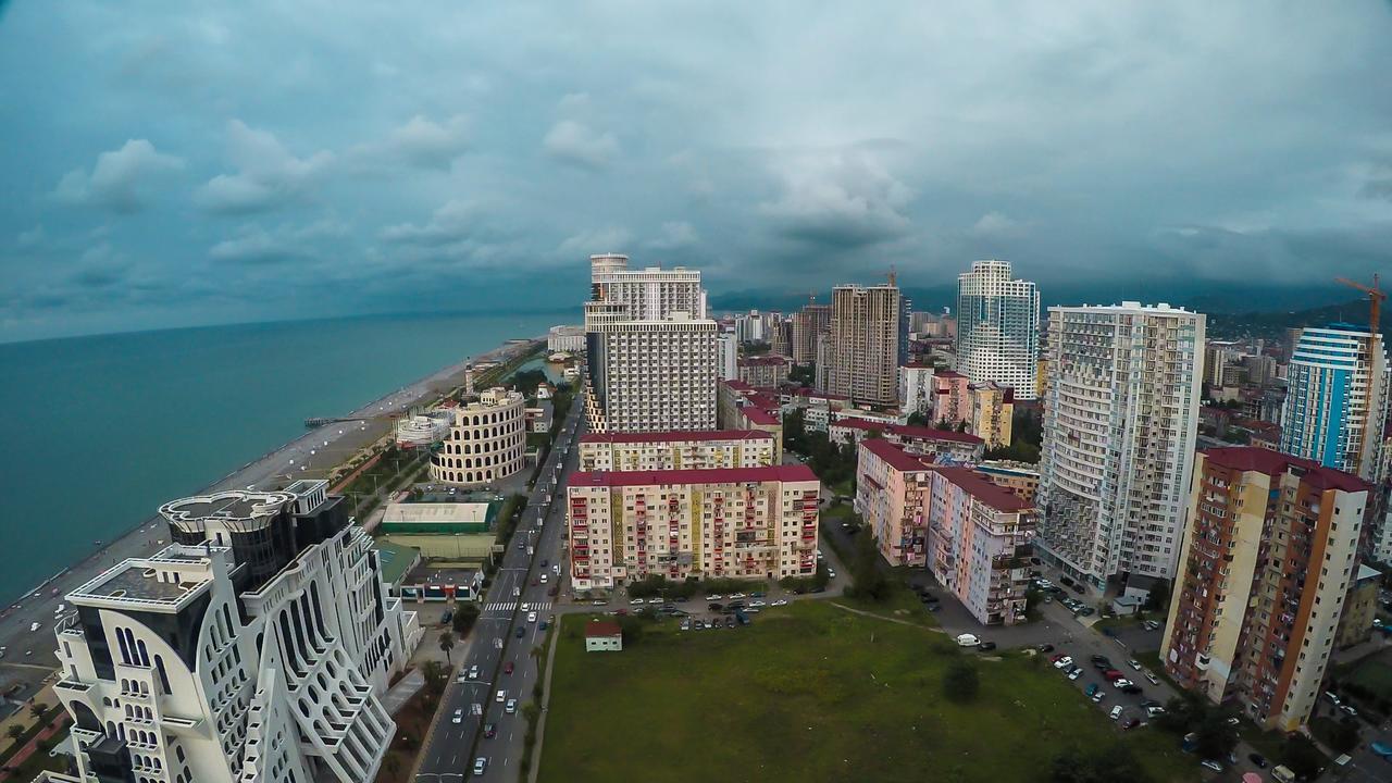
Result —
[{"label": "long pale shoreline strip between turquoise sea and city buildings", "polygon": [[[541,337],[544,340],[544,337]],[[227,489],[270,489],[294,478],[324,474],[391,431],[393,414],[432,401],[464,383],[465,368],[479,362],[508,362],[525,354],[528,341],[507,343],[484,354],[445,366],[390,394],[373,400],[337,421],[306,431],[299,437],[227,474],[199,493]],[[335,411],[326,411],[334,414]],[[153,509],[152,509],[153,511]],[[0,610],[0,719],[33,698],[43,679],[57,666],[53,626],[63,596],[128,557],[149,556],[168,542],[168,531],[156,515],[124,535],[102,542],[86,559],[74,563]],[[33,626],[38,624],[38,628]],[[31,630],[32,628],[32,630]]]}]

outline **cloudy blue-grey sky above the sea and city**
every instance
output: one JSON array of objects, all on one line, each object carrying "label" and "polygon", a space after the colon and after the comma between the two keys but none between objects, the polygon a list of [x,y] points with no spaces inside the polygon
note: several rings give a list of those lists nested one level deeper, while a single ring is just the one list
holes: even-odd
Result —
[{"label": "cloudy blue-grey sky above the sea and city", "polygon": [[1392,4],[0,0],[0,341],[1392,261]]}]

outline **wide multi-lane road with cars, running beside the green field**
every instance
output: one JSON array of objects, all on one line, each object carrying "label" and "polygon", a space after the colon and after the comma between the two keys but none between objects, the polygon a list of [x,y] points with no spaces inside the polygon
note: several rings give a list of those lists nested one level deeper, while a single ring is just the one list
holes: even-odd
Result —
[{"label": "wide multi-lane road with cars, running beside the green field", "polygon": [[[553,588],[560,591],[557,570],[564,570],[558,567],[565,528],[565,481],[578,467],[575,442],[583,418],[578,405],[572,408],[546,465],[537,474],[523,517],[484,596],[479,621],[455,662],[452,680],[443,697],[444,706],[422,748],[416,780],[455,782],[470,776],[475,737],[479,738],[476,755],[489,759],[482,777],[516,779],[526,734],[522,705],[532,701],[540,663],[532,651],[540,651],[546,639],[541,621],[557,613],[557,596],[548,592]],[[546,582],[540,581],[543,574]],[[536,621],[522,612],[523,603],[536,612]],[[519,630],[521,637],[516,635]],[[514,667],[511,674],[504,670],[508,663]],[[465,679],[464,674],[473,666],[479,667],[479,679]],[[504,701],[498,701],[500,692]],[[516,699],[516,712],[507,712],[508,699]],[[475,705],[482,715],[475,715]],[[484,723],[496,727],[494,737],[483,737]]]}]

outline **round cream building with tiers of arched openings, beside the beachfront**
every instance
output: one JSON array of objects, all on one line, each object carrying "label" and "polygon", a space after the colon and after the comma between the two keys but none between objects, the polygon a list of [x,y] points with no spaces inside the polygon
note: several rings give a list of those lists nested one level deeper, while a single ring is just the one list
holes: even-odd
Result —
[{"label": "round cream building with tiers of arched openings, beside the beachfront", "polygon": [[484,485],[522,470],[526,451],[526,398],[493,387],[452,411],[444,444],[430,457],[430,481]]}]

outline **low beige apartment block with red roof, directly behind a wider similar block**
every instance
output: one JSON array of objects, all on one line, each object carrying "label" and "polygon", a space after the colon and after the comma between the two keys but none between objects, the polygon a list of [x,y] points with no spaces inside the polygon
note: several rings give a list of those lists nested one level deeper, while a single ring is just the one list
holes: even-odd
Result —
[{"label": "low beige apartment block with red roof, directly behind a wider similar block", "polygon": [[773,465],[773,433],[759,429],[707,432],[594,432],[580,437],[582,471],[672,471]]}]

